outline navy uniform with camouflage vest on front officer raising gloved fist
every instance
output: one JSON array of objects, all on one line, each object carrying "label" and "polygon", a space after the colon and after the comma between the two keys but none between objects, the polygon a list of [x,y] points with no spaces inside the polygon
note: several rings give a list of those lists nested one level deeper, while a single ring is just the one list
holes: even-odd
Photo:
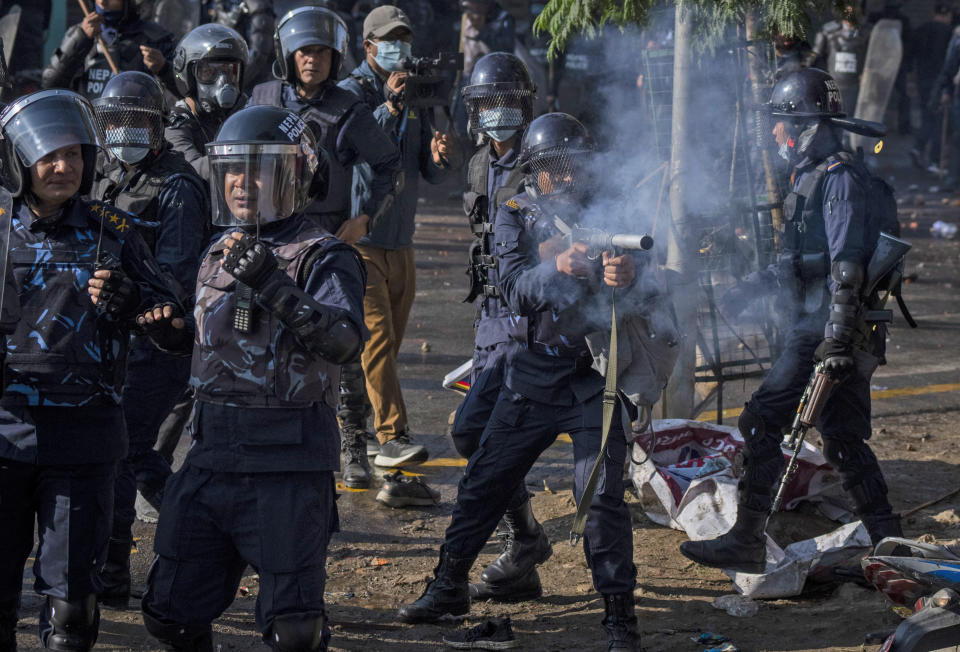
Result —
[{"label": "navy uniform with camouflage vest on front officer raising gloved fist", "polygon": [[[303,215],[263,226],[260,240],[289,261],[285,272],[306,294],[364,332],[363,272],[351,248]],[[143,609],[155,635],[167,627],[174,637],[208,635],[250,564],[267,640],[279,617],[324,613],[327,543],[338,529],[339,369],[263,306],[249,333],[233,330],[236,283],[220,269],[222,251],[218,241],[201,265],[194,441],[164,492]]]}]

